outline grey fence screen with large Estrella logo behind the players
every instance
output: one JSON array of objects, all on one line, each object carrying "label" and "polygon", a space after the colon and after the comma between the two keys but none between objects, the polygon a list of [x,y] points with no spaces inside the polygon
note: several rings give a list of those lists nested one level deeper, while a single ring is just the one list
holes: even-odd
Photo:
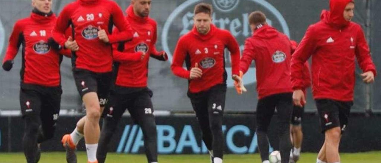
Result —
[{"label": "grey fence screen with large Estrella logo behind the players", "polygon": [[[59,13],[71,0],[54,0],[53,11]],[[128,0],[116,0],[123,10],[130,3]],[[192,10],[196,3],[208,2],[215,10],[216,26],[230,30],[241,45],[245,38],[251,35],[247,24],[247,16],[254,10],[262,10],[267,15],[268,22],[280,31],[289,34],[290,38],[300,41],[309,24],[319,21],[322,9],[328,8],[328,0],[233,0],[230,4],[219,3],[219,0],[153,0],[150,16],[158,22],[158,50],[172,53],[178,38],[192,27]],[[8,46],[8,38],[16,20],[29,16],[32,7],[30,0],[0,0],[0,58]],[[236,3],[236,5],[235,5]],[[367,3],[370,3],[370,16],[367,15]],[[226,6],[224,6],[226,5]],[[234,6],[235,5],[235,6]],[[225,8],[224,8],[225,7]],[[354,21],[361,24],[365,33],[370,31],[369,40],[372,57],[380,70],[381,57],[381,2],[379,0],[356,0]],[[224,11],[230,10],[230,11]],[[370,18],[370,26],[365,26]],[[283,24],[282,24],[283,23]],[[285,26],[287,24],[287,26]],[[285,29],[289,30],[285,30]],[[3,29],[3,30],[2,30]],[[164,42],[163,42],[164,41]],[[0,109],[18,110],[19,70],[21,55],[16,56],[11,72],[0,70]],[[230,60],[226,57],[227,71],[230,72]],[[154,91],[153,103],[156,110],[191,111],[189,99],[186,97],[187,81],[175,77],[170,71],[171,61],[159,62],[151,59],[149,64],[149,87]],[[76,109],[81,101],[75,89],[70,59],[65,58],[61,65],[62,74],[62,109]],[[248,93],[238,96],[232,87],[227,91],[227,111],[255,111],[257,95],[255,91],[254,68],[244,77]],[[381,111],[381,81],[376,77],[376,83],[367,88],[361,83],[357,70],[355,87],[355,105],[353,110],[363,112],[369,105],[375,111]],[[228,79],[231,86],[232,80]],[[307,112],[314,112],[315,106],[311,91],[308,91]],[[367,98],[369,96],[369,98]],[[367,105],[368,104],[368,105]]]}]

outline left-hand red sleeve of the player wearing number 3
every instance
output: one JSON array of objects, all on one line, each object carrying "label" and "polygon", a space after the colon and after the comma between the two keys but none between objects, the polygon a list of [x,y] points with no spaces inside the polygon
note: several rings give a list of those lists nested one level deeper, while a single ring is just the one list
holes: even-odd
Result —
[{"label": "left-hand red sleeve of the player wearing number 3", "polygon": [[191,74],[191,72],[182,68],[182,64],[187,55],[186,47],[184,47],[184,45],[184,39],[180,38],[174,49],[171,70],[174,75],[189,79],[189,74]]}]

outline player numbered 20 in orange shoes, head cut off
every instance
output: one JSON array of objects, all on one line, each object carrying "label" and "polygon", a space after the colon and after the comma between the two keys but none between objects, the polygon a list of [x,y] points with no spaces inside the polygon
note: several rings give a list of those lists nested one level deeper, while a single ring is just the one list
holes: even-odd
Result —
[{"label": "player numbered 20 in orange shoes, head cut off", "polygon": [[[70,25],[74,40],[67,41],[62,34]],[[113,25],[120,31],[117,35],[112,34]],[[75,85],[86,107],[86,116],[78,121],[71,134],[62,137],[67,162],[77,162],[75,149],[83,136],[88,162],[97,162],[99,118],[107,103],[112,78],[111,44],[130,40],[131,27],[114,1],[77,0],[61,11],[53,38],[59,45],[73,51]]]}]

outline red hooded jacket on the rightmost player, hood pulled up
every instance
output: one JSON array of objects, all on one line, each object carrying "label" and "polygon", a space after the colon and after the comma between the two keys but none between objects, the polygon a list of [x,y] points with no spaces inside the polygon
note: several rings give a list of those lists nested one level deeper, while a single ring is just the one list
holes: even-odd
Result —
[{"label": "red hooded jacket on the rightmost player, hood pulled up", "polygon": [[344,19],[352,0],[331,0],[321,21],[308,27],[291,59],[293,89],[302,89],[303,64],[312,56],[312,93],[315,99],[353,101],[355,58],[363,72],[376,75],[368,44],[359,24]]}]

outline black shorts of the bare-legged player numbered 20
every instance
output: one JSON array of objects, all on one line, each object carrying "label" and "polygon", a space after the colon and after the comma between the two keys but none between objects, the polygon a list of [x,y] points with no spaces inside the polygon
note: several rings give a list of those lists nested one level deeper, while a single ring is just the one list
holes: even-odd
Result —
[{"label": "black shorts of the bare-legged player numbered 20", "polygon": [[96,73],[84,69],[73,70],[75,86],[81,96],[89,92],[98,94],[99,105],[104,106],[108,101],[112,72]]}]

